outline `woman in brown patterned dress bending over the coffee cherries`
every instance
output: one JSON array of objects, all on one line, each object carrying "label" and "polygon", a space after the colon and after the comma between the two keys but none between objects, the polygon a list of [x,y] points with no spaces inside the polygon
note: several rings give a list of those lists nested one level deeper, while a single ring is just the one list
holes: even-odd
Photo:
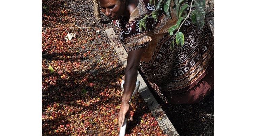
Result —
[{"label": "woman in brown patterned dress bending over the coffee cherries", "polygon": [[[202,100],[214,88],[214,37],[209,25],[198,30],[189,17],[182,25],[185,44],[176,43],[170,50],[172,36],[168,28],[176,25],[176,12],[172,19],[162,10],[157,21],[147,17],[146,30],[139,21],[155,10],[149,0],[100,0],[103,13],[122,28],[120,39],[128,52],[125,86],[119,116],[119,127],[125,116],[132,120],[129,100],[135,88],[139,62],[147,78],[156,83],[172,104],[193,104]],[[187,11],[188,12],[188,11]]]}]

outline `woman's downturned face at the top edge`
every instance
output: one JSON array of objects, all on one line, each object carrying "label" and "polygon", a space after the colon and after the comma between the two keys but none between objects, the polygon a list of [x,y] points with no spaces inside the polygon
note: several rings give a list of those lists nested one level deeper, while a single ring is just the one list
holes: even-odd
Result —
[{"label": "woman's downturned face at the top edge", "polygon": [[102,12],[110,19],[117,20],[125,13],[125,0],[100,0]]}]

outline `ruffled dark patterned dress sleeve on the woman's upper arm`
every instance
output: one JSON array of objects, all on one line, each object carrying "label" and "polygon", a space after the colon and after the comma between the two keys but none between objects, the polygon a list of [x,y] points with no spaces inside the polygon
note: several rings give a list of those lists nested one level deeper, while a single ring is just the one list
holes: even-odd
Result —
[{"label": "ruffled dark patterned dress sleeve on the woman's upper arm", "polygon": [[[139,28],[140,20],[145,16],[141,15],[138,18],[128,22],[120,34],[121,41],[124,42],[127,52],[148,46],[148,42],[151,41],[150,32],[154,29],[158,23],[152,16],[146,18],[146,28]],[[158,19],[159,20],[159,19]]]}]

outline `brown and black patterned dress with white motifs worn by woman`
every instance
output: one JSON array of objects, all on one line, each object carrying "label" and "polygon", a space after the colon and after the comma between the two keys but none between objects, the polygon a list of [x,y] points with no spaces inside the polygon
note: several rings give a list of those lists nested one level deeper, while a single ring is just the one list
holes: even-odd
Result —
[{"label": "brown and black patterned dress with white motifs worn by woman", "polygon": [[214,37],[207,22],[199,30],[191,23],[190,16],[180,29],[184,34],[184,45],[180,47],[175,42],[171,50],[172,36],[168,29],[177,23],[176,12],[171,9],[170,19],[160,10],[157,21],[148,16],[147,29],[140,29],[140,20],[153,10],[155,7],[150,5],[149,0],[139,0],[129,20],[121,17],[113,23],[123,28],[120,39],[128,52],[146,46],[141,63],[148,80],[156,83],[163,94],[182,93],[207,75],[206,70],[214,57]]}]

